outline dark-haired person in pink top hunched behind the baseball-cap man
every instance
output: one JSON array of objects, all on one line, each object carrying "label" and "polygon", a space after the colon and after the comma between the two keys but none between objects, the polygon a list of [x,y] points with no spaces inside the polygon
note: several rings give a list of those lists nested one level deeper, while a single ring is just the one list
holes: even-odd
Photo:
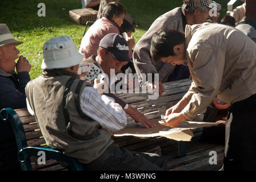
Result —
[{"label": "dark-haired person in pink top hunched behind the baseball-cap man", "polygon": [[[126,14],[125,6],[119,2],[110,2],[103,9],[103,17],[98,19],[87,30],[83,36],[79,52],[83,53],[83,57],[87,59],[91,55],[97,55],[97,49],[101,39],[110,33],[121,33],[121,25],[123,24],[123,17]],[[135,41],[133,38],[128,40],[129,56],[133,56],[131,49]]]}]

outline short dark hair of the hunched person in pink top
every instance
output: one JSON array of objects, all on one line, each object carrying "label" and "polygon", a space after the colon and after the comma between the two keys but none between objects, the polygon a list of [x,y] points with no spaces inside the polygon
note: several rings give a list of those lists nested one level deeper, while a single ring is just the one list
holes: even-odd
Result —
[{"label": "short dark hair of the hunched person in pink top", "polygon": [[110,2],[103,8],[102,16],[107,19],[112,19],[113,15],[117,15],[118,17],[122,14],[126,14],[125,6],[123,6],[119,2]]}]

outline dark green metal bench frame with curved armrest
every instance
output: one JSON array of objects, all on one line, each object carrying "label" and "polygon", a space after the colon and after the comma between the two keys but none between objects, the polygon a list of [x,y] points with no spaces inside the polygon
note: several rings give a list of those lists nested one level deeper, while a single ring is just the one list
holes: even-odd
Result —
[{"label": "dark green metal bench frame with curved armrest", "polygon": [[45,152],[46,159],[54,159],[65,162],[69,165],[71,171],[83,171],[82,165],[76,160],[52,148],[28,147],[25,131],[18,114],[11,108],[2,109],[0,117],[3,122],[10,122],[13,127],[17,148],[18,160],[21,163],[23,171],[32,171],[30,163],[31,156],[38,156],[39,151]]}]

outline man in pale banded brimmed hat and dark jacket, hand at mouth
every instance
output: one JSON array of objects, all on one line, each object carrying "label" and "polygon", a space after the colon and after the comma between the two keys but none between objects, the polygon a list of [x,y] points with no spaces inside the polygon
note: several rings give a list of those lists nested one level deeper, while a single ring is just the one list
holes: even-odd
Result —
[{"label": "man in pale banded brimmed hat and dark jacket, hand at mouth", "polygon": [[[6,24],[0,24],[0,110],[6,107],[26,107],[25,86],[30,80],[31,65],[26,57],[18,56],[19,50],[16,46],[22,43],[14,39]],[[15,148],[16,142],[10,123],[0,121],[0,170],[20,169]]]}]

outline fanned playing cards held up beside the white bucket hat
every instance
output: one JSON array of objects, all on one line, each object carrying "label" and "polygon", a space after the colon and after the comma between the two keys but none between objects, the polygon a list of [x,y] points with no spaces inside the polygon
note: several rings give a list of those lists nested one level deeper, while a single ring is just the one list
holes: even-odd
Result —
[{"label": "fanned playing cards held up beside the white bucket hat", "polygon": [[101,69],[97,67],[97,65],[95,65],[94,63],[80,63],[78,73],[84,72],[88,72],[88,74],[86,76],[83,76],[81,79],[87,79],[88,82],[91,82],[94,80],[94,78],[97,78],[97,76],[101,72]]}]

